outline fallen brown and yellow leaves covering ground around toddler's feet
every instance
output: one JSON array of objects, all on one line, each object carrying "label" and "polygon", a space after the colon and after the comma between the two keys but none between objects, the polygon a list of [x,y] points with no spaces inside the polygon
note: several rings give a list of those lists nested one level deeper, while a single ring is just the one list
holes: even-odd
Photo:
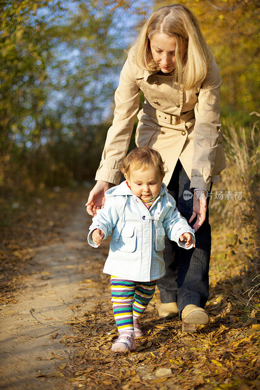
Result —
[{"label": "fallen brown and yellow leaves covering ground around toddler's feet", "polygon": [[[93,272],[93,270],[92,270]],[[93,291],[101,292],[96,307],[70,325],[73,332],[62,342],[71,352],[70,363],[58,372],[71,382],[72,389],[118,390],[255,390],[259,386],[259,332],[251,324],[243,326],[225,301],[220,314],[209,302],[210,323],[198,333],[184,334],[178,319],[158,318],[156,297],[142,319],[144,338],[127,354],[113,353],[117,338],[109,302],[109,279],[100,277],[102,262],[95,264]],[[214,298],[213,298],[214,299]],[[229,306],[229,307],[228,307]]]}]

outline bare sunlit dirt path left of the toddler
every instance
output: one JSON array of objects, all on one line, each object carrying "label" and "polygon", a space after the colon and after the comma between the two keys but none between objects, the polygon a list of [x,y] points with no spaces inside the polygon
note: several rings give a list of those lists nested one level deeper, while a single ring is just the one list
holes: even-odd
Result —
[{"label": "bare sunlit dirt path left of the toddler", "polygon": [[25,277],[23,291],[16,296],[18,303],[1,310],[1,388],[53,389],[61,382],[40,375],[53,375],[55,365],[68,361],[71,348],[60,344],[61,335],[71,333],[67,322],[76,312],[79,315],[93,308],[88,302],[75,309],[89,263],[86,228],[86,215],[80,206],[60,242],[38,249],[31,262],[31,275]]}]

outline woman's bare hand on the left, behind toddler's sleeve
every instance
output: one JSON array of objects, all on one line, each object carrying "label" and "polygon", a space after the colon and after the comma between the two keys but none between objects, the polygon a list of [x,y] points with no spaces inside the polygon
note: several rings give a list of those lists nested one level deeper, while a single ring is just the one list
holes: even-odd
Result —
[{"label": "woman's bare hand on the left, behind toddler's sleeve", "polygon": [[105,203],[105,192],[111,188],[113,184],[107,181],[98,180],[95,187],[90,191],[88,201],[86,203],[87,213],[95,216],[97,210],[102,209]]}]

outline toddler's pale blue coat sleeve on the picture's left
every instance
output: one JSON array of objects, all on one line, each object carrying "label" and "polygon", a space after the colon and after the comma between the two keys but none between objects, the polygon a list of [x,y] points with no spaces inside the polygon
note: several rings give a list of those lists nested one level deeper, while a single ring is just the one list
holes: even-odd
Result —
[{"label": "toddler's pale blue coat sleeve on the picture's left", "polygon": [[97,211],[97,215],[93,217],[92,224],[89,227],[89,234],[87,237],[89,245],[98,248],[92,240],[92,233],[95,229],[100,229],[104,233],[104,240],[112,234],[112,231],[118,221],[118,212],[116,207],[110,201],[105,201],[104,208]]}]

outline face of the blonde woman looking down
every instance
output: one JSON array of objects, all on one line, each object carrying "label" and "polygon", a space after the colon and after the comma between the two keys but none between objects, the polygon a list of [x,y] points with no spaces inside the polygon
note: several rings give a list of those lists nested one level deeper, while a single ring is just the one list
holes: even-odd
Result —
[{"label": "face of the blonde woman looking down", "polygon": [[172,72],[176,68],[176,39],[164,33],[154,34],[150,39],[150,46],[153,59],[160,70],[163,73]]}]

